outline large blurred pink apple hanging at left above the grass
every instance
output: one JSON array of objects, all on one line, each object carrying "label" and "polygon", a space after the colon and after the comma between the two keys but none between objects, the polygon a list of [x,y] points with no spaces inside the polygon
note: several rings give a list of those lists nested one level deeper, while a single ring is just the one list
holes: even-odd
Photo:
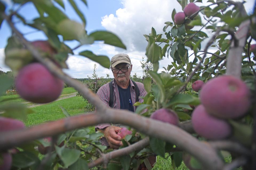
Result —
[{"label": "large blurred pink apple hanging at left above the grass", "polygon": [[19,71],[15,85],[23,99],[34,103],[49,103],[61,95],[64,82],[41,63],[31,63]]}]

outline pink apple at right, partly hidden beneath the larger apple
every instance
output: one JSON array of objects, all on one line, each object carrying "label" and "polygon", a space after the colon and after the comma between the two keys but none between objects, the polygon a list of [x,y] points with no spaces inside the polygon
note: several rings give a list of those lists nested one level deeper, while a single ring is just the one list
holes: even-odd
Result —
[{"label": "pink apple at right, partly hidden beneath the larger apple", "polygon": [[231,126],[225,120],[208,114],[203,105],[195,108],[191,122],[195,132],[207,139],[224,139],[231,134]]}]

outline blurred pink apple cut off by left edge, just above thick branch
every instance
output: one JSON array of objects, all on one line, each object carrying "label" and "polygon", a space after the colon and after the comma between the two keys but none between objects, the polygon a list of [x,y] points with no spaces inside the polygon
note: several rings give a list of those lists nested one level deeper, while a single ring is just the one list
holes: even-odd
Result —
[{"label": "blurred pink apple cut off by left edge, just above thick branch", "polygon": [[17,119],[0,117],[0,132],[25,128],[25,124]]}]

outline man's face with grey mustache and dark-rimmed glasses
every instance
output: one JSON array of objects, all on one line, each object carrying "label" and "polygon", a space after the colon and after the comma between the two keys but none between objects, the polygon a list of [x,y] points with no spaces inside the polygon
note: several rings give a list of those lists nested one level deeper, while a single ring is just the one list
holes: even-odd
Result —
[{"label": "man's face with grey mustache and dark-rimmed glasses", "polygon": [[[112,70],[113,69],[122,69],[122,68],[127,68],[127,67],[129,67],[129,64],[120,63],[120,64],[116,65],[115,67],[113,67]],[[113,73],[115,80],[118,82],[121,82],[121,83],[125,82],[126,80],[129,80],[132,67],[133,67],[133,65],[130,65],[130,67],[128,68],[128,71],[125,73],[123,73],[121,70],[119,70],[118,73]]]}]

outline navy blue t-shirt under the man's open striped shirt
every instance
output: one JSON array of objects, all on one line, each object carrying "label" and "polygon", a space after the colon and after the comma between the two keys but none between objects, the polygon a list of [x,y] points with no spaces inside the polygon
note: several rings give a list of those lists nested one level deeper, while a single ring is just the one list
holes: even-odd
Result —
[{"label": "navy blue t-shirt under the man's open striped shirt", "polygon": [[120,98],[120,109],[126,109],[134,112],[133,103],[131,101],[130,84],[128,88],[118,87],[119,98]]}]

